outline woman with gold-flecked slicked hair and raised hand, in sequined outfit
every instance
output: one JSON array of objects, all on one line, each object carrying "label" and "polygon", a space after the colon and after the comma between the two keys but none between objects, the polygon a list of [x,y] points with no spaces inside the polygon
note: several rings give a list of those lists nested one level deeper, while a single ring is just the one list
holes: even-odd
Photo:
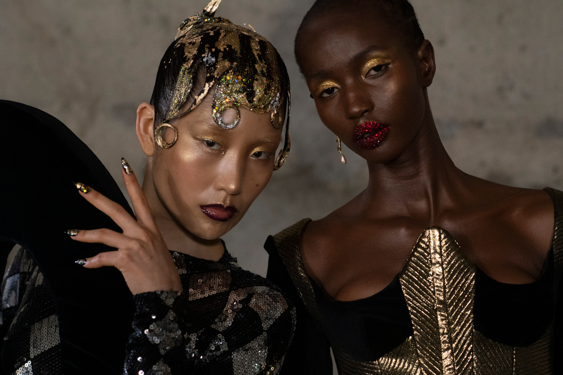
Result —
[{"label": "woman with gold-flecked slicked hair and raised hand, in sequined outfit", "polygon": [[[3,301],[11,303],[3,322],[12,323],[3,352],[10,371],[117,373],[126,354],[126,374],[279,372],[293,335],[292,304],[274,284],[241,269],[220,237],[288,155],[289,79],[268,40],[215,17],[219,3],[182,22],[160,61],[151,102],[138,107],[137,135],[148,156],[142,188],[122,159],[135,216],[112,190],[113,180],[100,180],[103,167],[79,166],[87,152],[73,154],[82,144],[77,139],[68,142],[70,151],[60,147],[64,157],[57,161],[39,141],[39,151],[26,150],[38,159],[34,174],[50,170],[41,182],[49,200],[3,203],[3,212],[14,211],[2,216],[5,237],[27,249],[16,256],[3,289]],[[15,111],[5,106],[3,113]],[[15,157],[11,152],[6,158]],[[18,156],[22,163],[26,157]],[[53,171],[65,160],[73,168]],[[47,210],[49,220],[39,219],[51,200],[65,203]],[[13,222],[32,206],[39,207],[28,215],[35,215],[32,232],[56,233],[48,242],[55,247],[51,257],[45,241],[14,234],[25,225],[4,229],[8,218]],[[131,333],[128,340],[123,332]]]}]

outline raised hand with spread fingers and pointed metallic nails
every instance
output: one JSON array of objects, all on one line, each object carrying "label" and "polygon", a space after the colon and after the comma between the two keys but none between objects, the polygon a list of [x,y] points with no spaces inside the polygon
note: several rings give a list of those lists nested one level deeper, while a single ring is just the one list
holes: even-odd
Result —
[{"label": "raised hand with spread fingers and pointed metallic nails", "polygon": [[[123,230],[123,233],[118,233],[103,228],[92,231],[74,231],[74,233],[78,232],[74,235],[70,233],[72,231],[69,231],[75,241],[104,243],[104,245],[118,249],[117,251],[101,252],[94,257],[87,258],[86,264],[83,265],[86,268],[102,266],[117,268],[123,274],[125,282],[133,294],[156,290],[182,291],[178,270],[154,223],[149,202],[127,161],[123,162],[123,168],[123,181],[127,187],[127,193],[131,197],[137,220],[133,219],[121,205],[94,189],[86,186],[79,188],[80,195],[108,215]],[[126,170],[130,174],[127,174]]]}]

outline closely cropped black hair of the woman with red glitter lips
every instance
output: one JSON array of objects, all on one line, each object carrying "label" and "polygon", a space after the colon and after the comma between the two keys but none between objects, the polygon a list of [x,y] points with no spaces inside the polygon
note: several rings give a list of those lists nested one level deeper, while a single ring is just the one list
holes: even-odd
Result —
[{"label": "closely cropped black hair of the woman with red glitter lips", "polygon": [[[424,41],[424,33],[418,24],[417,15],[414,12],[409,0],[316,0],[311,6],[297,30],[294,44],[294,54],[297,64],[299,59],[299,42],[303,34],[303,29],[310,21],[318,17],[321,13],[336,9],[363,10],[367,8],[376,9],[384,19],[397,28],[407,47],[418,49]],[[301,67],[301,66],[300,66]]]}]

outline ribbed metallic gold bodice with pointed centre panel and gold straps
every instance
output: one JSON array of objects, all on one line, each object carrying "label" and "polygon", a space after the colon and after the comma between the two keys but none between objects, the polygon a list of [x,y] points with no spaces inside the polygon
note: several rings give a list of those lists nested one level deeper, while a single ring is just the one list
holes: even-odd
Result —
[{"label": "ribbed metallic gold bodice with pointed centre panel and gold straps", "polygon": [[[555,204],[555,284],[561,275],[563,193],[548,189]],[[473,329],[475,265],[444,229],[431,227],[418,238],[399,274],[414,334],[373,362],[356,360],[330,337],[315,302],[311,279],[299,249],[309,219],[276,234],[274,240],[309,313],[327,333],[341,375],[515,375],[552,374],[553,324],[538,341],[525,347],[494,342]],[[297,317],[298,318],[298,317]]]}]

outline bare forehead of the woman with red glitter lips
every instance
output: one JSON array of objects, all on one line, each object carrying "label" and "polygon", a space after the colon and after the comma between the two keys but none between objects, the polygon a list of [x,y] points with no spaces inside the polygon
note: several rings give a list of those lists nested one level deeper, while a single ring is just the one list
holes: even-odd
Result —
[{"label": "bare forehead of the woman with red glitter lips", "polygon": [[327,66],[349,64],[364,55],[403,49],[399,32],[377,12],[331,10],[302,30],[298,60],[307,78]]}]

